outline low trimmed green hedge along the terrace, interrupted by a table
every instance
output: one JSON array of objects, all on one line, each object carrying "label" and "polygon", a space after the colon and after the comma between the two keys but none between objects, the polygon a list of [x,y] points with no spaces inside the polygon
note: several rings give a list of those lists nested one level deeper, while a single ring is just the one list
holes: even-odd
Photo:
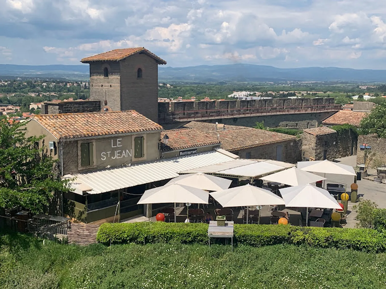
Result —
[{"label": "low trimmed green hedge along the terrace, interrupted by a table", "polygon": [[[207,244],[208,225],[201,223],[104,223],[98,242]],[[321,248],[386,251],[382,232],[372,229],[295,227],[289,225],[235,224],[234,242],[254,247],[274,244],[307,244]]]}]

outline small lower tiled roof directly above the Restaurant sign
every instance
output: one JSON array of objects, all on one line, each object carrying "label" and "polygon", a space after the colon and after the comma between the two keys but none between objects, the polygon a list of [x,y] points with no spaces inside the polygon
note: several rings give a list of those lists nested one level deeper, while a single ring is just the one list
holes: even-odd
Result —
[{"label": "small lower tiled roof directly above the Restaurant sign", "polygon": [[208,133],[202,133],[201,131],[193,128],[180,128],[163,131],[161,133],[161,140],[165,134],[168,135],[169,142],[168,145],[161,143],[162,151],[182,150],[185,148],[197,148],[199,146],[220,144],[220,141],[217,140],[216,136]]}]

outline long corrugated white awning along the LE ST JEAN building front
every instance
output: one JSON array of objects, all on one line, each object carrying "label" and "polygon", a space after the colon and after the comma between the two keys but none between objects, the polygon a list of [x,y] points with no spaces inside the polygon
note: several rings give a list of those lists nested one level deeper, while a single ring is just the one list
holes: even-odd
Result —
[{"label": "long corrugated white awning along the LE ST JEAN building front", "polygon": [[[234,157],[237,156],[234,155]],[[70,186],[75,193],[80,195],[84,193],[100,194],[154,181],[168,180],[179,176],[178,172],[180,171],[192,170],[231,160],[234,160],[234,158],[230,155],[225,155],[219,151],[209,151],[179,158],[168,158],[152,163],[66,175],[64,178],[74,178]]]}]

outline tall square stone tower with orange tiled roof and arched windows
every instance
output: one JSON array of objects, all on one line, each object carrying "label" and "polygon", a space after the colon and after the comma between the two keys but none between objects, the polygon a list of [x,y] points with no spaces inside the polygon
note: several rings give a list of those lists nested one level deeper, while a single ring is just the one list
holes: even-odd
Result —
[{"label": "tall square stone tower with orange tiled roof and arched windows", "polygon": [[81,60],[90,64],[90,99],[113,111],[135,109],[158,121],[158,64],[144,47],[115,49]]}]

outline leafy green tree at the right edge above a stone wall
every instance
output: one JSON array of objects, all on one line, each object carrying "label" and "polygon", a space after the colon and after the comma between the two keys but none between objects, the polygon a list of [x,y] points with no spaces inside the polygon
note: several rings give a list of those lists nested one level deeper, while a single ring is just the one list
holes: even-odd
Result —
[{"label": "leafy green tree at the right edge above a stone wall", "polygon": [[362,119],[361,134],[376,133],[380,138],[386,138],[386,103],[376,106],[371,113]]}]

